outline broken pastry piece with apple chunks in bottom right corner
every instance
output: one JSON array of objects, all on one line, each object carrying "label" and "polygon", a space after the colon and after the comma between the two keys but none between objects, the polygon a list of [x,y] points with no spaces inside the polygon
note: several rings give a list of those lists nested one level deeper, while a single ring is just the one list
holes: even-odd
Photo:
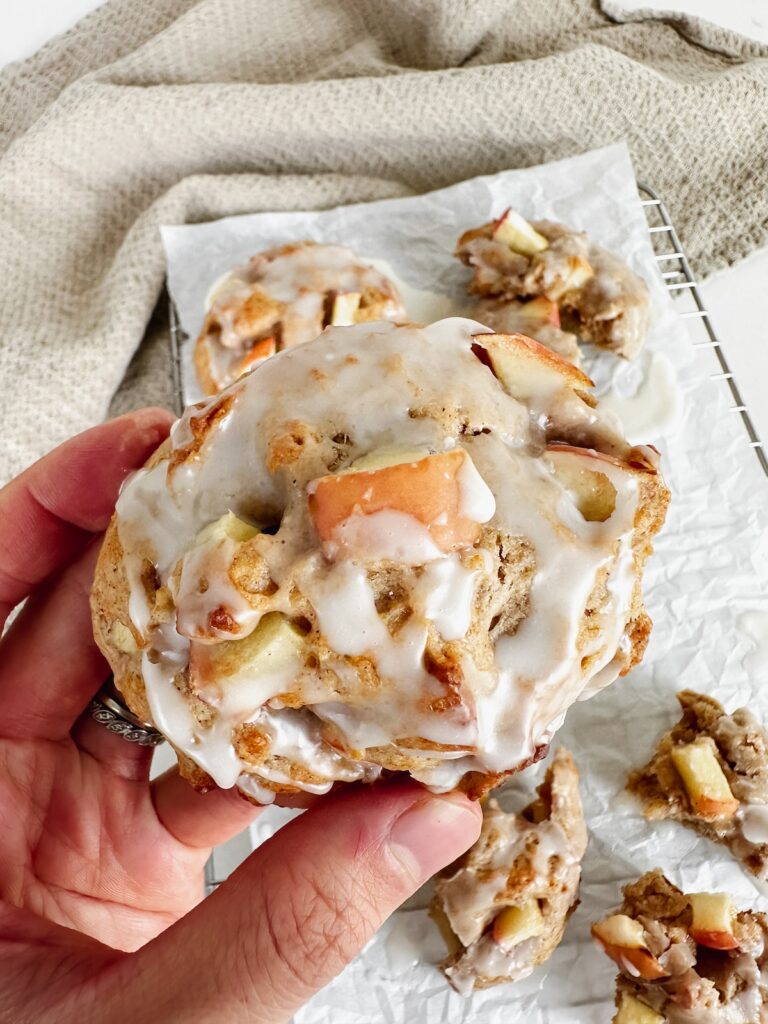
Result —
[{"label": "broken pastry piece with apple chunks in bottom right corner", "polygon": [[592,935],[620,967],[613,1024],[768,1020],[768,919],[725,893],[686,895],[648,871]]}]

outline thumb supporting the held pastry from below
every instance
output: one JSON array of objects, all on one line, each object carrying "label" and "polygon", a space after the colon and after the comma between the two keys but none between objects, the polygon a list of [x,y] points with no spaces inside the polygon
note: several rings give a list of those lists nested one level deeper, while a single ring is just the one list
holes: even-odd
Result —
[{"label": "thumb supporting the held pastry from below", "polygon": [[480,821],[463,795],[416,784],[326,798],[134,954],[137,1005],[154,1021],[288,1020],[474,843]]}]

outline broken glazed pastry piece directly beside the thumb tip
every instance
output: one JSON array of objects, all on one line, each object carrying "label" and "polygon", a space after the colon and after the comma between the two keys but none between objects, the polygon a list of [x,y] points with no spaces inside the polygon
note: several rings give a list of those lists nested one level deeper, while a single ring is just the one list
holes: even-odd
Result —
[{"label": "broken glazed pastry piece directly beside the thumb tip", "polygon": [[518,981],[552,955],[578,903],[586,848],[579,772],[564,749],[519,814],[488,801],[480,838],[438,878],[430,908],[457,991]]}]

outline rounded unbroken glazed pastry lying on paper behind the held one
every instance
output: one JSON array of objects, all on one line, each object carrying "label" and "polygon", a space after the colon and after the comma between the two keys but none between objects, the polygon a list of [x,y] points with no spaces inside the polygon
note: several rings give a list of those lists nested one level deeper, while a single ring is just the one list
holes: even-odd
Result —
[{"label": "rounded unbroken glazed pastry lying on paper behind the held one", "polygon": [[253,256],[214,288],[195,369],[216,394],[284,348],[329,325],[404,321],[397,289],[345,246],[297,242]]}]

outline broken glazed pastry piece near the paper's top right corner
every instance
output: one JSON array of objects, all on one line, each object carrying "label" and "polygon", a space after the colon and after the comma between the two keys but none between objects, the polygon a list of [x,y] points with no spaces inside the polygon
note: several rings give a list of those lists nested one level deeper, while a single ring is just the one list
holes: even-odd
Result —
[{"label": "broken glazed pastry piece near the paper's top right corner", "polygon": [[[642,347],[648,330],[645,282],[583,231],[549,220],[528,223],[510,209],[465,231],[456,255],[474,270],[469,290],[482,297],[478,319],[495,330],[525,333],[507,317],[520,314],[521,299],[543,297],[558,305],[565,326],[583,341],[627,359]],[[572,342],[549,334],[532,337],[572,358]]]}]

